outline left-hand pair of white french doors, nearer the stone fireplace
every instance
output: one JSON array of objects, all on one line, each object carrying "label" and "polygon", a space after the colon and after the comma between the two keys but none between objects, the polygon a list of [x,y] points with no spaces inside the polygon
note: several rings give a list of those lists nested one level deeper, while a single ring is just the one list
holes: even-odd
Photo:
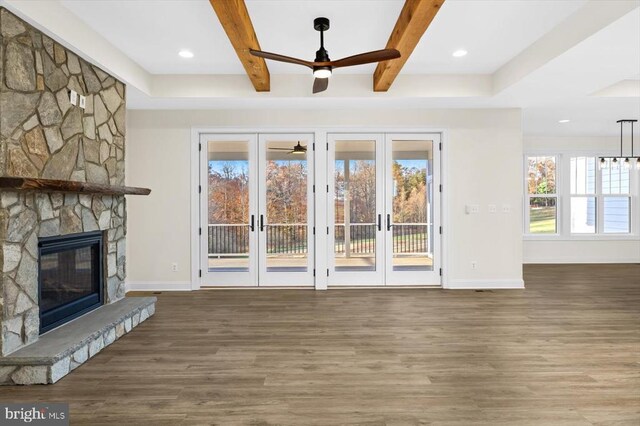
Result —
[{"label": "left-hand pair of white french doors, nearer the stone fireplace", "polygon": [[313,134],[200,144],[201,285],[312,286]]}]

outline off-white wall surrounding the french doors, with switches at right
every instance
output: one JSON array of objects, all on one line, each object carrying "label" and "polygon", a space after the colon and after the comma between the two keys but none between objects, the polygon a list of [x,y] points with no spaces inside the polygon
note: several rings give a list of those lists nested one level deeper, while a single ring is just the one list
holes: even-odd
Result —
[{"label": "off-white wall surrounding the french doors, with switches at right", "polygon": [[[502,110],[132,110],[127,183],[148,186],[128,199],[128,282],[132,288],[190,288],[191,128],[367,127],[445,129],[450,287],[522,285],[522,123]],[[479,204],[479,214],[465,214]],[[489,204],[498,212],[487,212]],[[502,213],[502,205],[511,211]],[[471,261],[477,268],[471,268]],[[171,272],[171,264],[180,270]]]}]

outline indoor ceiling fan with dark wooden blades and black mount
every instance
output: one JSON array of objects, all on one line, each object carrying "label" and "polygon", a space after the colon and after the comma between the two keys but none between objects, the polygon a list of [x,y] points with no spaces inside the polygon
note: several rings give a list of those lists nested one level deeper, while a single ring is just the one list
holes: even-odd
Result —
[{"label": "indoor ceiling fan with dark wooden blades and black mount", "polygon": [[382,49],[332,61],[329,59],[329,52],[324,48],[324,32],[329,29],[329,19],[314,19],[313,28],[320,32],[320,49],[316,52],[316,59],[313,62],[279,55],[277,53],[263,52],[261,50],[249,49],[249,52],[251,52],[252,55],[259,56],[261,58],[288,62],[290,64],[303,65],[311,68],[313,70],[313,76],[315,77],[315,80],[313,81],[313,93],[319,93],[327,90],[327,87],[329,86],[329,77],[331,77],[331,72],[334,68],[370,64],[373,62],[388,61],[389,59],[396,59],[400,57],[400,52],[396,49]]}]

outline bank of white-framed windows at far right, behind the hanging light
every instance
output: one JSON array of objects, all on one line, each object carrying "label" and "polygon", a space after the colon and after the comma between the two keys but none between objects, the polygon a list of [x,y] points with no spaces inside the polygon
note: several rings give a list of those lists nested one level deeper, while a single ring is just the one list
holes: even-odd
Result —
[{"label": "bank of white-framed windows at far right, behind the hanging light", "polygon": [[528,156],[526,163],[526,234],[597,236],[637,232],[640,223],[633,223],[632,209],[639,198],[639,171],[624,167],[600,169],[596,156]]}]

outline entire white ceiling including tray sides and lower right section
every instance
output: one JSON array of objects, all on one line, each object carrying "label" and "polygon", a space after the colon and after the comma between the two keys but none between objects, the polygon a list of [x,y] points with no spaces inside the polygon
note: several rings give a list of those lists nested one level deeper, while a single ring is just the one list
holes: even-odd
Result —
[{"label": "entire white ceiling including tray sides and lower right section", "polygon": [[[315,17],[331,19],[325,45],[338,59],[385,47],[403,5],[245,2],[263,50],[305,59],[319,45]],[[526,135],[554,136],[615,135],[615,120],[640,117],[640,0],[446,0],[388,93],[371,91],[368,65],[338,70],[320,95],[308,70],[273,61],[271,92],[256,93],[208,0],[0,5],[126,81],[130,108],[516,107]]]}]

